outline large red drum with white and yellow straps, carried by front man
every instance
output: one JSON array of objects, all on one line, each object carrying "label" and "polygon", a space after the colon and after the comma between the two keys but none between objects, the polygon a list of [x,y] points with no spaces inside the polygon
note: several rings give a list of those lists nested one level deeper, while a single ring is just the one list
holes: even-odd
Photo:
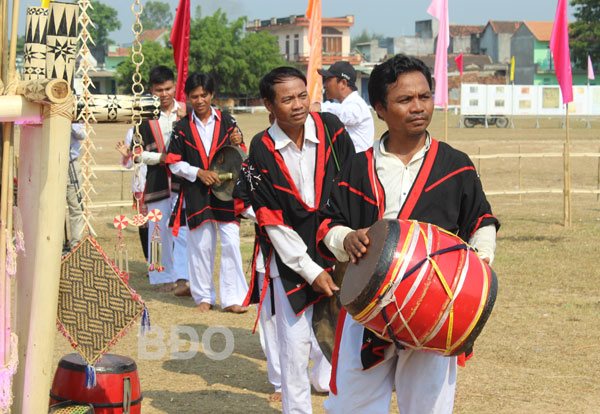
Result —
[{"label": "large red drum with white and yellow straps, carried by front man", "polygon": [[342,282],[348,313],[399,347],[445,356],[469,350],[496,300],[487,263],[432,224],[380,220],[367,235],[366,255]]}]

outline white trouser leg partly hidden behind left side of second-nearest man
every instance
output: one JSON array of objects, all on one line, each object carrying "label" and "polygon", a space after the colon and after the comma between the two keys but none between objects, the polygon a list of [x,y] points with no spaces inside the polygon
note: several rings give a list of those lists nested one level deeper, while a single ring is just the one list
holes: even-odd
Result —
[{"label": "white trouser leg partly hidden behind left side of second-nearest man", "polygon": [[[257,272],[258,291],[262,292],[265,274]],[[260,346],[267,358],[267,375],[275,392],[281,392],[281,367],[279,366],[279,348],[277,347],[276,315],[273,315],[271,305],[271,287],[267,287],[265,299],[258,315],[258,336]],[[258,309],[258,306],[257,306]]]}]

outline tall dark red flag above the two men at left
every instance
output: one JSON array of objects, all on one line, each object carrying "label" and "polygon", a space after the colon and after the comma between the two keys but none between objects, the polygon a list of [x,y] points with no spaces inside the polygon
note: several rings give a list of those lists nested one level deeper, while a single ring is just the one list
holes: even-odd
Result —
[{"label": "tall dark red flag above the two men at left", "polygon": [[190,56],[190,0],[179,0],[179,7],[177,7],[173,29],[171,30],[171,44],[173,45],[173,58],[177,68],[175,99],[179,102],[185,102],[184,86]]}]

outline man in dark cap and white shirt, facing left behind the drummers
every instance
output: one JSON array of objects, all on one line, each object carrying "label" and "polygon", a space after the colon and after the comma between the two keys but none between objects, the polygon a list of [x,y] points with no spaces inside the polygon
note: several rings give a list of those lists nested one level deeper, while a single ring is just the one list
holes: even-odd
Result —
[{"label": "man in dark cap and white shirt, facing left behind the drummers", "polygon": [[373,146],[375,127],[371,110],[356,89],[356,71],[346,61],[336,62],[329,69],[319,69],[323,76],[326,102],[315,102],[311,111],[330,112],[340,118],[354,142],[356,152]]}]

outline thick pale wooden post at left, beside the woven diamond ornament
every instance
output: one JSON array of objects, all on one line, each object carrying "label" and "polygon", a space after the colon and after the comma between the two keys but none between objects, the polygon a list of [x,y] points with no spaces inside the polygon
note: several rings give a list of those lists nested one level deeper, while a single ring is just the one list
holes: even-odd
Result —
[{"label": "thick pale wooden post at left, beside the woven diamond ornament", "polygon": [[27,218],[23,220],[27,260],[18,262],[21,363],[15,383],[16,414],[48,411],[72,105],[69,101],[46,106],[42,127],[27,127],[21,132],[19,182],[27,185],[19,187],[19,206]]}]

